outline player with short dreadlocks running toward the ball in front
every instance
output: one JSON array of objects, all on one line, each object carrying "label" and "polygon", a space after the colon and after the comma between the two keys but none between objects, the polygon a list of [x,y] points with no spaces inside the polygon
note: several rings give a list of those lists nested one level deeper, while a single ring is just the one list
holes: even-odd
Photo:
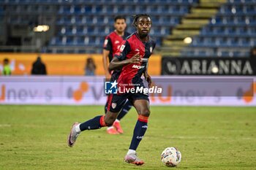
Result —
[{"label": "player with short dreadlocks running toward the ball in front", "polygon": [[[118,53],[110,62],[109,69],[113,70],[122,67],[121,74],[117,80],[119,87],[122,86],[121,88],[143,88],[143,80],[141,79],[143,74],[150,87],[151,77],[147,72],[147,61],[156,45],[148,36],[151,29],[151,18],[146,14],[135,15],[133,26],[135,26],[137,31],[122,42]],[[99,115],[84,123],[74,123],[72,125],[68,136],[69,147],[75,144],[81,131],[112,125],[127,98],[132,101],[133,106],[137,110],[138,120],[124,161],[135,165],[142,165],[144,162],[138,158],[136,150],[148,128],[150,109],[147,93],[111,94],[108,98],[108,112],[105,115]]]}]

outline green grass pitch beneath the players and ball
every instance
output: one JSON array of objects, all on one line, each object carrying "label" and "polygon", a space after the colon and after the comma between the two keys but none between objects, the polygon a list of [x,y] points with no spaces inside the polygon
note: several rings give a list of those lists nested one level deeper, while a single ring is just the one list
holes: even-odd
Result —
[{"label": "green grass pitch beneath the players and ball", "polygon": [[102,106],[0,105],[0,169],[173,169],[160,161],[165,147],[181,151],[174,169],[256,169],[256,107],[151,107],[138,147],[143,166],[124,163],[137,121],[133,108],[121,121],[124,134],[84,131],[67,147],[72,123],[102,111]]}]

